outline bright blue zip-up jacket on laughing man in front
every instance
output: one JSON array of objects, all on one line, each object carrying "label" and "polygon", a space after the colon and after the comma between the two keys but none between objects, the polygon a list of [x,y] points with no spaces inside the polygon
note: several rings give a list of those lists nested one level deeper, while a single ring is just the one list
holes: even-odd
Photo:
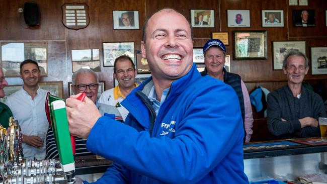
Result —
[{"label": "bright blue zip-up jacket on laughing man in front", "polygon": [[174,81],[158,115],[147,99],[151,78],[122,102],[125,124],[101,117],[87,148],[115,162],[97,183],[249,183],[235,91],[194,64]]}]

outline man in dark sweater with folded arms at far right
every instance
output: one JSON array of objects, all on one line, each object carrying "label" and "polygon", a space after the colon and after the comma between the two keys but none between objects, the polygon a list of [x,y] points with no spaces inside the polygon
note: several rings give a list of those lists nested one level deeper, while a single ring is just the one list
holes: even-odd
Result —
[{"label": "man in dark sweater with folded arms at far right", "polygon": [[279,139],[320,136],[318,118],[326,112],[321,97],[302,86],[308,63],[302,52],[288,53],[283,61],[287,85],[267,97],[268,129]]}]

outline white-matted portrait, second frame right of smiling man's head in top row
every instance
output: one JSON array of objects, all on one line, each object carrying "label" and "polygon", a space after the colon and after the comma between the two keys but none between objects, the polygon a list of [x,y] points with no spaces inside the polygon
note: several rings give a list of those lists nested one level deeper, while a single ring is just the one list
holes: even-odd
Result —
[{"label": "white-matted portrait, second frame right of smiling man's head in top row", "polygon": [[227,27],[251,27],[250,10],[227,10]]}]

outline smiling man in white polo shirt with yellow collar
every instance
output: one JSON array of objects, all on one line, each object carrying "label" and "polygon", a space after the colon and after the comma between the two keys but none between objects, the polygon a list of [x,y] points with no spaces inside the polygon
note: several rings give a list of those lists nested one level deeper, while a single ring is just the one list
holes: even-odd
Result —
[{"label": "smiling man in white polo shirt with yellow collar", "polygon": [[117,57],[114,63],[114,78],[118,80],[118,85],[104,91],[99,99],[101,104],[115,106],[124,121],[128,111],[120,103],[137,86],[135,83],[136,73],[135,64],[129,56]]}]

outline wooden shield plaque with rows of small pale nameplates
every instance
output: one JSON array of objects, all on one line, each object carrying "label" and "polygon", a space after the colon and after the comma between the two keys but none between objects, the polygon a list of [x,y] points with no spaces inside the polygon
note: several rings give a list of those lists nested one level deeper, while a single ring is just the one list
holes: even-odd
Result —
[{"label": "wooden shield plaque with rows of small pale nameplates", "polygon": [[65,3],[61,6],[62,24],[68,29],[83,29],[90,24],[89,6],[85,3]]}]

